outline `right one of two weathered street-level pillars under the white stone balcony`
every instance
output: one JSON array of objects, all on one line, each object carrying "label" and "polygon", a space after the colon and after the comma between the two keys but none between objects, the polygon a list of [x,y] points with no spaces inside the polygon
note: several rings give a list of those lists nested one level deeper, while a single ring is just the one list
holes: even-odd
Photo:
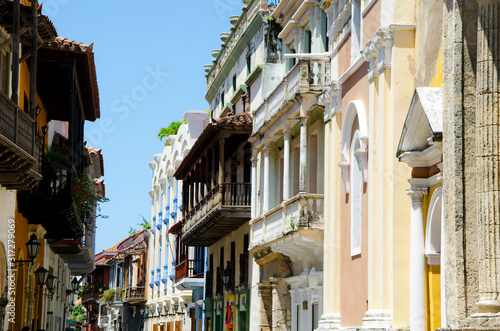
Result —
[{"label": "right one of two weathered street-level pillars under the white stone balcony", "polygon": [[273,331],[290,330],[290,293],[284,278],[270,278],[273,293]]}]

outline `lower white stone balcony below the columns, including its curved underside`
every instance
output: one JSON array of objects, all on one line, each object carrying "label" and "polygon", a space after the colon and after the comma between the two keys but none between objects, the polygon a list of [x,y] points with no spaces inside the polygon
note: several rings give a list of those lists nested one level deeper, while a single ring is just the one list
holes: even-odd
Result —
[{"label": "lower white stone balcony below the columns, including its curved underside", "polygon": [[[323,194],[299,193],[250,222],[250,250],[271,247],[292,261],[323,250]],[[321,254],[322,256],[322,254]]]}]

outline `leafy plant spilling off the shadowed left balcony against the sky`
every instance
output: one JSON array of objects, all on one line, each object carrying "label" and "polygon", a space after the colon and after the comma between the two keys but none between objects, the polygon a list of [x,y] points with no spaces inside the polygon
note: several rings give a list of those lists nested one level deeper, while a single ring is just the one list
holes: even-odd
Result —
[{"label": "leafy plant spilling off the shadowed left balcony against the sky", "polygon": [[102,196],[102,191],[95,190],[96,181],[87,175],[75,176],[72,184],[71,195],[76,203],[78,216],[85,227],[85,232],[90,236],[96,228],[96,219],[108,218],[108,215],[100,213],[100,205],[109,199]]}]

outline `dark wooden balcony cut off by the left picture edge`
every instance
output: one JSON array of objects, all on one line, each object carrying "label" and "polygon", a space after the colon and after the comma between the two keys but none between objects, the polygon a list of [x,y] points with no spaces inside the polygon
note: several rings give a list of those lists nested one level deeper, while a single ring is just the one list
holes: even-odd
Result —
[{"label": "dark wooden balcony cut off by the left picture edge", "polygon": [[28,190],[42,179],[35,120],[0,92],[0,185]]}]

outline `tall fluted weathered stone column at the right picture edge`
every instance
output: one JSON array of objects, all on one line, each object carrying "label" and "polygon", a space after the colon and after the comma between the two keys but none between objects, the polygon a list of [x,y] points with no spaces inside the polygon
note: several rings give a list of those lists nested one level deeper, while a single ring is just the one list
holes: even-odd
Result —
[{"label": "tall fluted weathered stone column at the right picture edge", "polygon": [[500,312],[500,0],[479,0],[477,35],[477,221],[480,313]]}]

